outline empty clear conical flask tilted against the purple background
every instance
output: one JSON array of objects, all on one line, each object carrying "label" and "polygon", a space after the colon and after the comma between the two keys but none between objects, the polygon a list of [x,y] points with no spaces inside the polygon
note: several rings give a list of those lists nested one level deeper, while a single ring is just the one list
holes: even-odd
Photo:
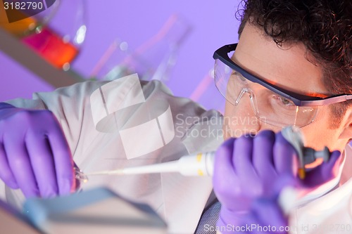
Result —
[{"label": "empty clear conical flask tilted against the purple background", "polygon": [[130,50],[126,42],[114,41],[92,72],[97,79],[113,80],[137,73],[142,80],[168,82],[178,48],[191,27],[180,15],[171,15],[161,30],[144,44]]}]

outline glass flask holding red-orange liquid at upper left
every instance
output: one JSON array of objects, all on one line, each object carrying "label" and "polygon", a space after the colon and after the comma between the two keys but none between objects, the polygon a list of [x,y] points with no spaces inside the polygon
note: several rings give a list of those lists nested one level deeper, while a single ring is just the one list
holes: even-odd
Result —
[{"label": "glass flask holding red-orange liquid at upper left", "polygon": [[69,70],[87,30],[84,0],[56,0],[56,3],[59,6],[50,22],[37,27],[22,41],[54,67]]}]

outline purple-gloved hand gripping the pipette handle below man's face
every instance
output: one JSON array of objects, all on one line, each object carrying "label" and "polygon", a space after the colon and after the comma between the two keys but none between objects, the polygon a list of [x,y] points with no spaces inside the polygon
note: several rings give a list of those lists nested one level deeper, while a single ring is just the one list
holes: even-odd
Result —
[{"label": "purple-gloved hand gripping the pipette handle below man's face", "polygon": [[301,183],[296,152],[281,133],[261,131],[255,137],[230,138],[215,156],[213,187],[222,204],[218,226],[239,225],[253,200],[272,195],[274,182],[280,177],[291,178],[290,183],[296,186],[328,181],[339,155],[333,152],[329,162],[310,171]]}]

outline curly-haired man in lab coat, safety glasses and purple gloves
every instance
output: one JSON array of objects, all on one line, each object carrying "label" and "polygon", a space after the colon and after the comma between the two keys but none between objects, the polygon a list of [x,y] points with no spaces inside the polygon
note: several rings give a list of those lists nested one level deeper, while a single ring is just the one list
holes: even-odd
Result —
[{"label": "curly-haired man in lab coat, safety glasses and purple gloves", "polygon": [[[215,63],[215,82],[227,99],[222,129],[228,140],[217,151],[213,178],[215,193],[222,203],[218,221],[221,232],[235,231],[221,229],[227,224],[239,226],[253,220],[268,223],[265,215],[257,215],[253,204],[260,197],[272,197],[272,191],[279,193],[283,186],[278,183],[314,188],[303,197],[301,205],[305,207],[296,212],[297,225],[306,225],[301,218],[307,218],[310,208],[315,207],[311,201],[324,199],[329,194],[321,196],[334,188],[330,194],[338,196],[339,191],[344,191],[351,196],[351,175],[346,174],[351,160],[347,143],[352,136],[352,108],[347,100],[351,99],[352,84],[350,12],[349,1],[246,1],[239,43],[218,51]],[[226,58],[230,51],[234,51],[231,59]],[[158,82],[142,82],[143,105],[123,112],[125,108],[120,107],[127,107],[126,102],[138,94],[130,92],[131,86],[137,87],[131,80],[111,84],[109,94],[104,93],[106,83],[84,82],[53,93],[37,93],[34,100],[8,101],[16,108],[3,103],[0,177],[4,183],[20,188],[27,197],[65,195],[75,188],[71,154],[83,171],[95,171],[175,160],[184,154],[218,148],[218,136],[188,134],[202,132],[208,126],[218,130],[218,122],[211,122],[213,118],[221,119],[218,114],[206,112],[190,100],[170,96]],[[105,121],[105,115],[99,117],[100,109],[93,104],[94,91],[102,93],[104,103],[110,97],[119,102],[112,114],[106,113],[106,117],[113,115],[117,119],[113,133],[99,131],[101,121],[94,120],[98,116]],[[175,126],[172,141],[146,155],[129,157],[121,131],[142,120],[158,119],[169,110],[168,106]],[[146,112],[154,116],[141,119]],[[315,150],[328,146],[344,154],[339,157],[335,151],[329,162],[315,167],[303,182],[299,181],[293,148],[280,134],[272,132],[288,125],[301,128],[307,146]],[[148,132],[139,135],[149,136]],[[156,135],[149,138],[153,142]],[[211,181],[207,178],[160,174],[89,179],[87,186],[111,186],[122,195],[151,204],[168,221],[172,233],[193,231],[203,207],[207,211],[213,204]],[[339,182],[342,189],[337,188]],[[18,194],[11,189],[2,191],[9,202],[18,200]],[[275,207],[275,199],[270,207]],[[279,209],[275,212],[276,220],[282,220]],[[308,218],[308,222],[313,220]],[[308,224],[319,225],[324,219]],[[199,228],[203,228],[201,224]]]}]

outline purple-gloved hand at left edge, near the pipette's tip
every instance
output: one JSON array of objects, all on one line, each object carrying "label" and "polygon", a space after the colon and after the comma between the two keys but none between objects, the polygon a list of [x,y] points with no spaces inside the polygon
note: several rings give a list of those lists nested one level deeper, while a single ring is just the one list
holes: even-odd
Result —
[{"label": "purple-gloved hand at left edge, near the pipette's tip", "polygon": [[65,195],[75,188],[70,149],[52,112],[0,103],[0,178],[26,197]]}]

